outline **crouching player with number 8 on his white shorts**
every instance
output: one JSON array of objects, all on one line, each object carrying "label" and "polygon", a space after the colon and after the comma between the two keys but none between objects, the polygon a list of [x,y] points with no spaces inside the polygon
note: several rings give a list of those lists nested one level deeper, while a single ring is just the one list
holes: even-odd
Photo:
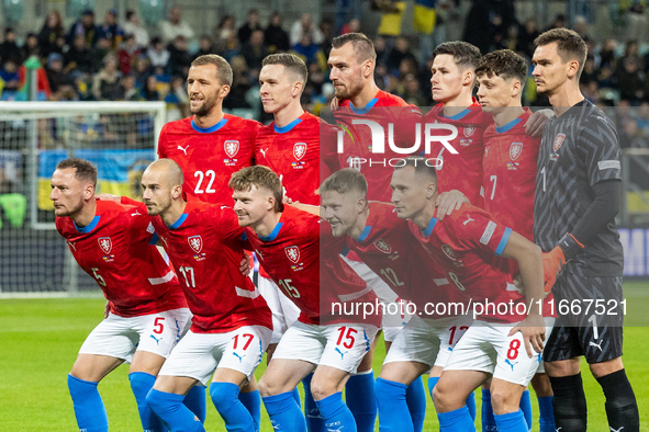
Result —
[{"label": "crouching player with number 8 on his white shorts", "polygon": [[[544,322],[539,310],[544,298],[540,249],[472,205],[463,205],[439,220],[435,208],[436,172],[424,162],[424,158],[411,157],[395,169],[392,202],[400,218],[410,218],[411,232],[435,264],[472,300],[477,316],[452,350],[434,388],[440,428],[449,432],[474,431],[466,399],[493,376],[491,390],[499,429],[527,431],[519,401],[540,362],[540,354],[533,356],[531,348],[541,352],[553,321],[546,318]],[[503,271],[499,257],[516,260],[526,297],[508,283],[510,275]],[[383,368],[380,379],[388,380],[387,384],[400,383],[399,378],[407,384],[414,373],[425,367],[416,363],[417,350],[409,343],[411,336],[403,332],[400,337],[405,339],[402,352],[389,352],[385,362],[393,355],[410,355],[411,366]]]}]

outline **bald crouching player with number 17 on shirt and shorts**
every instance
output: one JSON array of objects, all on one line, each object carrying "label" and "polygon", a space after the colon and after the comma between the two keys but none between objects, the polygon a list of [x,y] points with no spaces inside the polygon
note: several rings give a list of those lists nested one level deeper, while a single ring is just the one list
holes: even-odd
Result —
[{"label": "bald crouching player with number 17 on shirt and shorts", "polygon": [[160,370],[146,400],[172,431],[204,431],[181,401],[205,386],[227,430],[255,432],[255,419],[239,401],[272,333],[270,309],[249,277],[239,273],[243,249],[232,209],[186,202],[182,170],[171,159],[153,162],[142,175],[144,203],[181,282],[192,326]]}]

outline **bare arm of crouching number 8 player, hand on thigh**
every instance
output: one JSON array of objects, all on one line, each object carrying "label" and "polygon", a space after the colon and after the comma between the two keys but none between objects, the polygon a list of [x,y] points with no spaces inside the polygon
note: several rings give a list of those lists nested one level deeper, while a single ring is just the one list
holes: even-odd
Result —
[{"label": "bare arm of crouching number 8 player, hand on thigh", "polygon": [[510,336],[519,331],[523,334],[527,355],[531,357],[531,350],[537,353],[544,350],[546,339],[546,326],[540,310],[540,302],[545,298],[541,249],[512,231],[502,257],[516,260],[518,263],[521,280],[526,287],[525,298],[528,307],[527,317],[510,331]]}]

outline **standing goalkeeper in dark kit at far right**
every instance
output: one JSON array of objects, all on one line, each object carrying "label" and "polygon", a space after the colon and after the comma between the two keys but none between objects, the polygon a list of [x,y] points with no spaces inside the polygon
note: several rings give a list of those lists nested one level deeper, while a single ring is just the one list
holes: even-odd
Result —
[{"label": "standing goalkeeper in dark kit at far right", "polygon": [[[534,239],[552,264],[545,269],[546,280],[551,285],[562,270],[553,289],[557,302],[619,305],[623,250],[614,216],[622,177],[615,125],[579,89],[588,54],[583,39],[573,31],[555,29],[535,45],[537,90],[549,96],[557,115],[544,130],[534,202]],[[586,430],[582,355],[604,390],[611,430],[639,430],[638,405],[622,363],[622,307],[558,318],[544,359],[562,432]]]}]

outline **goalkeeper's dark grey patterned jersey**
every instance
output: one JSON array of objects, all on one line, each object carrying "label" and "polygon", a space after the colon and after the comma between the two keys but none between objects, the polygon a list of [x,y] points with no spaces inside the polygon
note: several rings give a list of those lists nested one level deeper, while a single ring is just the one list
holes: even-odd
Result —
[{"label": "goalkeeper's dark grey patterned jersey", "polygon": [[[588,100],[575,104],[546,123],[537,169],[534,241],[549,252],[591,206],[593,186],[622,180],[615,125]],[[622,276],[623,260],[611,220],[567,263],[567,270],[583,276]]]}]

